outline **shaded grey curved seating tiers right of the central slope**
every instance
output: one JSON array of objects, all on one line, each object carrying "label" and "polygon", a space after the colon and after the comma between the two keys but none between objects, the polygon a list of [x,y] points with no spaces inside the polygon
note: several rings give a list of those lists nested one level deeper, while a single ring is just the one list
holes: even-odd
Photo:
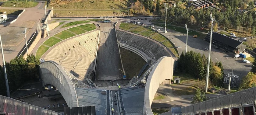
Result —
[{"label": "shaded grey curved seating tiers right of the central slope", "polygon": [[[121,30],[116,30],[116,34],[121,47],[133,52],[137,51],[135,53],[139,54],[145,61],[151,58],[151,61],[155,62],[155,60],[158,60],[160,57],[172,56],[168,48],[151,38],[141,37]],[[133,50],[134,48],[137,50]]]}]

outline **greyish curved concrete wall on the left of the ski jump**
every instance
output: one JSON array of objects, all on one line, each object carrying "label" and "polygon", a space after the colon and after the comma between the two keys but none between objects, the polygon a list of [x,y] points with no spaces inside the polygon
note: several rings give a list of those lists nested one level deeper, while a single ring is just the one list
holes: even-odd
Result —
[{"label": "greyish curved concrete wall on the left of the ski jump", "polygon": [[39,68],[43,85],[55,86],[69,107],[78,107],[75,87],[65,70],[54,61],[44,61]]}]

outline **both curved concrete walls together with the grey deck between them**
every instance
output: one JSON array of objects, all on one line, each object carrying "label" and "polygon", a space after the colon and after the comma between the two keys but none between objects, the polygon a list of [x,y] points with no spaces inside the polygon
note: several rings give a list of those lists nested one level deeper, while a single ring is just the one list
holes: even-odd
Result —
[{"label": "both curved concrete walls together with the grey deck between them", "polygon": [[[113,98],[118,94],[117,100],[122,100],[120,101],[122,103],[118,103],[120,106],[116,110],[119,110],[122,114],[153,115],[151,110],[152,100],[159,85],[166,79],[172,79],[173,64],[174,59],[172,57],[161,57],[151,66],[151,71],[145,73],[145,75],[148,75],[146,86],[140,85],[141,79],[139,79],[131,86],[118,92],[96,89],[86,85],[54,61],[44,61],[39,66],[43,85],[51,84],[59,89],[71,108],[96,106],[96,111],[99,111],[99,114],[104,113],[105,109],[107,113],[110,113],[110,107],[114,106]],[[161,77],[159,78],[158,76]],[[131,106],[131,103],[140,104]],[[122,108],[124,109],[123,111]]]}]

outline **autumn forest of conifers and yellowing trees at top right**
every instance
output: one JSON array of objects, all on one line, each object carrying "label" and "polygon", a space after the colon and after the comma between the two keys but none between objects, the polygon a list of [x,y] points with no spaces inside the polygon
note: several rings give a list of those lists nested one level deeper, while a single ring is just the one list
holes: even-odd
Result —
[{"label": "autumn forest of conifers and yellowing trees at top right", "polygon": [[[216,0],[212,0],[212,2],[214,4],[217,3]],[[219,6],[216,5],[216,7],[219,8],[221,11],[212,7],[209,7],[208,9],[194,9],[194,6],[191,6],[186,9],[188,5],[178,5],[176,7],[171,7],[167,9],[167,19],[173,18],[171,20],[173,21],[176,18],[182,16],[177,20],[177,23],[206,26],[211,24],[209,14],[212,13],[213,18],[218,21],[218,23],[214,24],[213,30],[216,31],[218,29],[218,26],[222,26],[225,29],[234,29],[237,33],[244,33],[248,36],[251,35],[252,37],[256,36],[256,9],[252,9],[247,12],[241,13],[240,15],[233,16],[246,9],[253,8],[253,0],[219,0],[218,2]],[[159,5],[159,7],[157,7],[157,4],[154,5],[153,8],[155,8],[155,10],[153,10],[153,12],[155,15],[165,17],[165,9],[161,1],[159,1]]]}]

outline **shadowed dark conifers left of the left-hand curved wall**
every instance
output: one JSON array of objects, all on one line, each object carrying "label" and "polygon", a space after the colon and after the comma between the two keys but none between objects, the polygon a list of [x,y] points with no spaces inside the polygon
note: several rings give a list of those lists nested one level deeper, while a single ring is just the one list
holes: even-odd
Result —
[{"label": "shadowed dark conifers left of the left-hand curved wall", "polygon": [[[39,64],[40,60],[33,54],[28,55],[27,59],[20,56],[15,57],[10,62],[5,61],[9,90],[14,91],[24,83],[38,81],[37,65]],[[7,95],[4,69],[2,66],[0,66],[0,95]]]}]

